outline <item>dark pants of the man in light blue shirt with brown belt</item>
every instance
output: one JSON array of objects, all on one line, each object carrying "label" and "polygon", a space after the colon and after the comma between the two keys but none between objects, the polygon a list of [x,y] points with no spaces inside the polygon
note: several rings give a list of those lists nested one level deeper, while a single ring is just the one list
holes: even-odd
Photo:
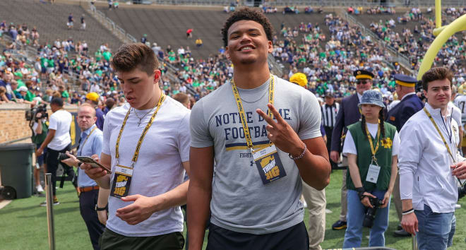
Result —
[{"label": "dark pants of the man in light blue shirt with brown belt", "polygon": [[79,196],[79,211],[86,227],[88,227],[90,242],[92,243],[94,250],[100,250],[99,238],[105,229],[105,226],[100,223],[99,218],[97,217],[97,211],[95,211],[98,196],[98,189],[83,192]]}]

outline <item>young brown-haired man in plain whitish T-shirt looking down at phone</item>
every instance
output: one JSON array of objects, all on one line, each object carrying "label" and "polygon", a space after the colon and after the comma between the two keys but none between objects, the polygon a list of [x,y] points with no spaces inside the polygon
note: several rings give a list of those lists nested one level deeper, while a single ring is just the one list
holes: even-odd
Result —
[{"label": "young brown-haired man in plain whitish T-shirt looking down at phone", "polygon": [[127,104],[107,113],[102,154],[92,158],[112,174],[80,167],[101,188],[111,189],[109,218],[101,249],[182,249],[183,215],[189,181],[189,109],[159,87],[152,49],[124,44],[114,54]]}]

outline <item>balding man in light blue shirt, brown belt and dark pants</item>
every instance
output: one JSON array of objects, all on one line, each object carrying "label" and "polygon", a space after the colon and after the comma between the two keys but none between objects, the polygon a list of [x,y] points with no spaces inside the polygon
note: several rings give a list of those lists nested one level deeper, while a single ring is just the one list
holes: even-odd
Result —
[{"label": "balding man in light blue shirt, brown belt and dark pants", "polygon": [[[100,155],[102,153],[102,131],[95,126],[95,109],[85,103],[79,107],[78,110],[78,126],[81,130],[81,136],[79,139],[78,149],[76,150],[77,156],[90,156]],[[79,167],[80,161],[76,159],[74,155],[66,153],[68,159],[61,160],[68,166]],[[97,183],[90,179],[85,174],[83,169],[78,168],[78,189],[80,191],[79,196],[79,208],[81,217],[88,227],[90,242],[94,250],[99,248],[99,237],[104,232],[105,226],[99,221],[99,218],[107,220],[107,198],[109,189],[99,189]],[[102,193],[101,201],[97,201],[99,192]],[[106,194],[105,194],[106,192]],[[99,218],[97,217],[99,213]]]}]

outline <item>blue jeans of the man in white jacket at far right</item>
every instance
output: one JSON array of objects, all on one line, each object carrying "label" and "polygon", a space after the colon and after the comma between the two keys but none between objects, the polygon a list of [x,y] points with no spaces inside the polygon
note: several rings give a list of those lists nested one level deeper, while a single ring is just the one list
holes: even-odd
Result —
[{"label": "blue jeans of the man in white jacket at far right", "polygon": [[456,229],[456,218],[452,213],[434,213],[424,204],[424,210],[414,210],[416,213],[419,232],[417,232],[417,245],[419,250],[447,249],[453,244],[453,234]]}]

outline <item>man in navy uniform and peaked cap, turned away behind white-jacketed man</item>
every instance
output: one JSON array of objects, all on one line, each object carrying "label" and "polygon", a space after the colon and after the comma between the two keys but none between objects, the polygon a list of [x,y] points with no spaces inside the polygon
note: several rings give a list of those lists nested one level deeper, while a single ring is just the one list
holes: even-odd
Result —
[{"label": "man in navy uniform and peaked cap, turned away behind white-jacketed man", "polygon": [[[390,109],[386,121],[395,126],[398,133],[400,133],[401,128],[405,125],[406,121],[410,119],[413,114],[416,114],[421,110],[424,107],[424,103],[419,99],[419,97],[417,97],[414,90],[417,83],[416,78],[403,74],[395,74],[393,78],[395,78],[395,90],[398,98],[400,98],[400,102],[398,105]],[[395,201],[398,219],[401,222],[402,204],[400,199],[400,174],[398,173],[395,180],[395,187],[393,189],[393,200]],[[398,230],[396,230],[394,234],[399,237],[411,236],[411,234],[403,230],[400,225],[398,225]]]}]

